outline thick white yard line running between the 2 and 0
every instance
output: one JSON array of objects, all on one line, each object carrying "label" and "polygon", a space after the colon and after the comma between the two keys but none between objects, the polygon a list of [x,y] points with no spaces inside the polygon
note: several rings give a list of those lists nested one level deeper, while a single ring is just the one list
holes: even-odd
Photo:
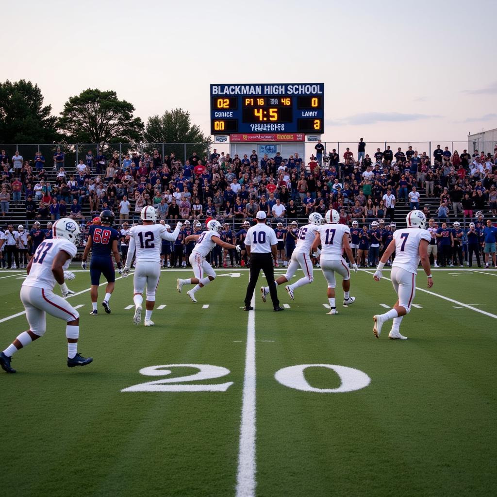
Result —
[{"label": "thick white yard line running between the 2 and 0", "polygon": [[[255,309],[255,292],[250,305]],[[236,497],[255,495],[255,310],[248,311]]]}]

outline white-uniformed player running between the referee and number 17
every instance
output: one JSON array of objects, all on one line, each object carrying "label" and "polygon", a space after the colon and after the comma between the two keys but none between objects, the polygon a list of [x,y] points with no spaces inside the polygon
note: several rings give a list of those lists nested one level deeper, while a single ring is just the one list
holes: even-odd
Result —
[{"label": "white-uniformed player running between the referee and number 17", "polygon": [[[276,286],[281,285],[282,283],[286,283],[287,281],[290,281],[299,267],[302,268],[302,271],[304,271],[304,276],[292,285],[287,285],[285,287],[285,290],[288,292],[288,295],[292,300],[294,299],[294,291],[296,288],[312,283],[314,280],[313,266],[309,253],[311,252],[312,244],[316,238],[316,231],[318,229],[318,226],[320,226],[323,221],[323,216],[319,212],[313,212],[309,215],[309,224],[306,224],[299,229],[299,232],[297,234],[297,245],[293,250],[292,257],[290,259],[290,263],[288,264],[285,275],[280,276],[275,281]],[[262,298],[262,302],[266,301],[266,296],[268,293],[268,286],[260,287],[260,296]]]}]

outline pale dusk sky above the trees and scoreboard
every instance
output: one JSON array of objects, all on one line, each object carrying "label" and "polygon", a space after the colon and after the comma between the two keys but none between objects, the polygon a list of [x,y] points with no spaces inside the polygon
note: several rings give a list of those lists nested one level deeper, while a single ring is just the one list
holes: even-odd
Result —
[{"label": "pale dusk sky above the trees and scoreboard", "polygon": [[1,80],[55,113],[113,89],[209,133],[211,83],[325,83],[327,141],[464,141],[497,127],[495,2],[85,1],[2,6]]}]

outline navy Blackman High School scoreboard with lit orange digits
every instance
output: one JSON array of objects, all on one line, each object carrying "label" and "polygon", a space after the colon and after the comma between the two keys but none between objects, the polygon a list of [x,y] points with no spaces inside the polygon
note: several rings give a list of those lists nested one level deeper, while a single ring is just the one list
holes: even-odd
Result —
[{"label": "navy Blackman High School scoreboard with lit orange digits", "polygon": [[211,134],[325,131],[324,83],[211,84]]}]

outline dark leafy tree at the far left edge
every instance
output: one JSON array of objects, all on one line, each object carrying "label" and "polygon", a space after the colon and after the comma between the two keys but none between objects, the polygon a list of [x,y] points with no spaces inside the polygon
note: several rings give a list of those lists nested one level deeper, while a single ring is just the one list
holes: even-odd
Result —
[{"label": "dark leafy tree at the far left edge", "polygon": [[43,106],[37,84],[20,80],[0,83],[0,143],[54,143],[57,118]]}]

